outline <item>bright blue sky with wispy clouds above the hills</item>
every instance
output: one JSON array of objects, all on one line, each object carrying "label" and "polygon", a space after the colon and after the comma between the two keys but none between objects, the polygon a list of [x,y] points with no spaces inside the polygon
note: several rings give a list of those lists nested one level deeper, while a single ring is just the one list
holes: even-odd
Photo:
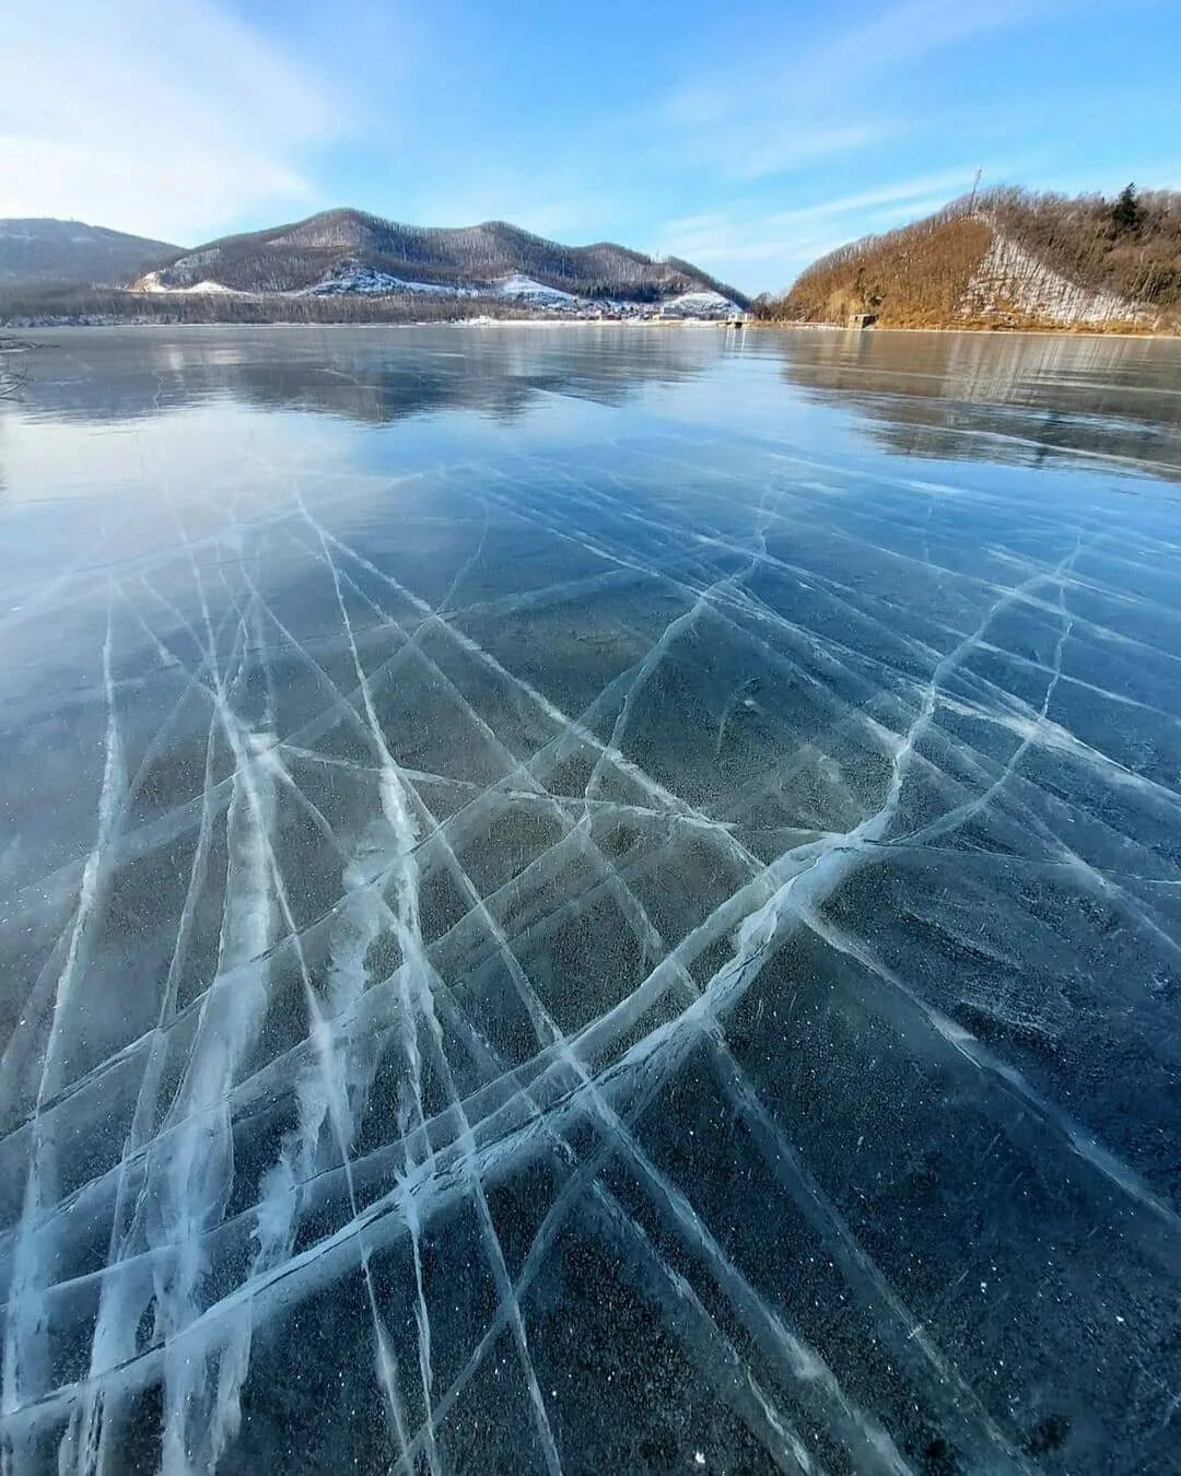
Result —
[{"label": "bright blue sky with wispy clouds above the hills", "polygon": [[1177,0],[0,0],[0,215],[357,205],[747,291],[971,184],[1181,187]]}]

